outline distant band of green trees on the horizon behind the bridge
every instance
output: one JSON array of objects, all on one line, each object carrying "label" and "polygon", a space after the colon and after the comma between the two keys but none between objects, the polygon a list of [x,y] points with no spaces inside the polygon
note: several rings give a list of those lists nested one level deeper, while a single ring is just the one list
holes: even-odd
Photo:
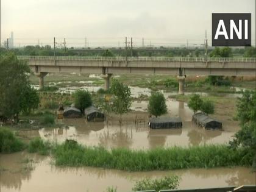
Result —
[{"label": "distant band of green trees on the horizon behind the bridge", "polygon": [[[54,55],[54,49],[49,46],[25,46],[24,48],[15,48],[10,51],[15,52],[16,55]],[[6,49],[1,48],[1,52],[7,52]],[[57,56],[102,56],[102,57],[205,57],[205,50],[202,48],[134,48],[132,50],[121,48],[56,48],[55,54]],[[208,50],[208,57],[256,57],[256,49],[249,48],[210,48]]]}]

